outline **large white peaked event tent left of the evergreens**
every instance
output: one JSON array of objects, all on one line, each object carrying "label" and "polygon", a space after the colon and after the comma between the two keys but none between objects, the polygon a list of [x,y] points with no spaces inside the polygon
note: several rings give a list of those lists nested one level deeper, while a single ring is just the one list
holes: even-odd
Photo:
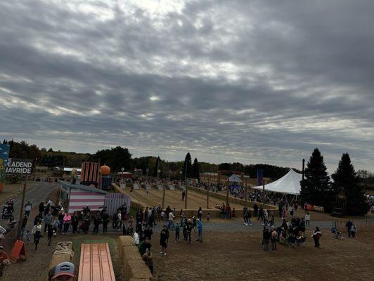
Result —
[{"label": "large white peaked event tent left of the evergreens", "polygon": [[[265,185],[265,190],[300,195],[300,181],[302,181],[302,174],[297,174],[294,170],[290,169],[288,174],[282,178]],[[262,189],[262,186],[256,186],[254,188]]]}]

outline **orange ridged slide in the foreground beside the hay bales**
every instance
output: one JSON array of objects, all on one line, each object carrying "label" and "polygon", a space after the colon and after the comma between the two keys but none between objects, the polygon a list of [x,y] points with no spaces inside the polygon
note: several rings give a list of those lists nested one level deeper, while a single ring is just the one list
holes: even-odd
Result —
[{"label": "orange ridged slide in the foreground beside the hay bales", "polygon": [[115,281],[108,243],[82,244],[78,281]]}]

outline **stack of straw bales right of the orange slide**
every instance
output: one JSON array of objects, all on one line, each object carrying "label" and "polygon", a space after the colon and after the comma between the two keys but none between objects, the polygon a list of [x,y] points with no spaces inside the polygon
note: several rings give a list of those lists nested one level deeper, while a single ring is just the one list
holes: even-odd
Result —
[{"label": "stack of straw bales right of the orange slide", "polygon": [[124,280],[153,280],[153,276],[146,263],[141,259],[138,247],[134,246],[131,236],[118,237],[118,255],[123,264]]}]

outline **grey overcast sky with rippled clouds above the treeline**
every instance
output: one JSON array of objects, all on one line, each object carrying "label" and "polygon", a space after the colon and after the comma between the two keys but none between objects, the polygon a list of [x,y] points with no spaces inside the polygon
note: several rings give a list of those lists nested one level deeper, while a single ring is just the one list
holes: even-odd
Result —
[{"label": "grey overcast sky with rippled clouds above the treeline", "polygon": [[0,1],[0,138],[374,170],[374,2]]}]

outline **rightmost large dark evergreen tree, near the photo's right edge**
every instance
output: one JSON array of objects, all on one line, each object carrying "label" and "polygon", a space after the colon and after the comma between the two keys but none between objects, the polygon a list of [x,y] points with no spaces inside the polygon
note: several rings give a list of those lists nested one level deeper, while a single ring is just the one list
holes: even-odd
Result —
[{"label": "rightmost large dark evergreen tree, near the photo's right edge", "polygon": [[363,216],[368,212],[365,193],[359,184],[359,177],[348,153],[342,155],[339,166],[333,174],[333,192],[335,195],[344,192],[347,197],[347,214],[349,216]]}]

